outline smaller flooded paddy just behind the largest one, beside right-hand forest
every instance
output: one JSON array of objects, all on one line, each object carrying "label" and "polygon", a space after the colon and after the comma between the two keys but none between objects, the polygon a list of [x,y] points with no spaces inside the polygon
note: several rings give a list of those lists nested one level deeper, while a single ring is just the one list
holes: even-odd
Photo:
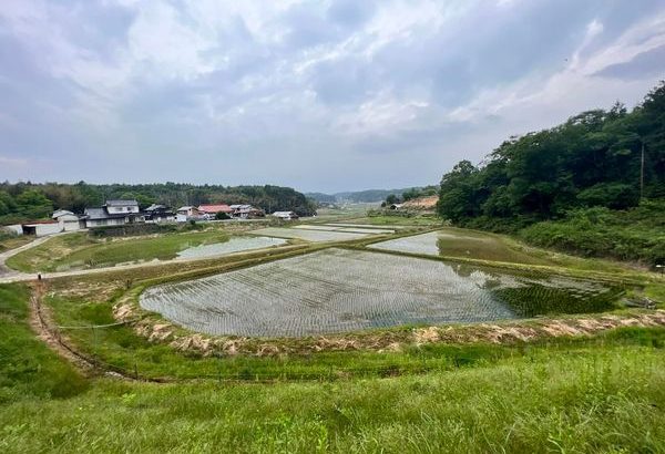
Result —
[{"label": "smaller flooded paddy just behind the largest one, beside right-hand forest", "polygon": [[369,248],[399,252],[464,257],[515,264],[551,265],[552,261],[520,249],[500,236],[458,228],[375,243]]}]

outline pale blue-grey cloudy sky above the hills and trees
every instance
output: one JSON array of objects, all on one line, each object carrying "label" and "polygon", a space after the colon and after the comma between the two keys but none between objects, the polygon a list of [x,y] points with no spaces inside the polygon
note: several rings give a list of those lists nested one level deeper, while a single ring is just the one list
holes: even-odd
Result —
[{"label": "pale blue-grey cloudy sky above the hills and trees", "polygon": [[665,79],[665,0],[2,0],[0,180],[436,184]]}]

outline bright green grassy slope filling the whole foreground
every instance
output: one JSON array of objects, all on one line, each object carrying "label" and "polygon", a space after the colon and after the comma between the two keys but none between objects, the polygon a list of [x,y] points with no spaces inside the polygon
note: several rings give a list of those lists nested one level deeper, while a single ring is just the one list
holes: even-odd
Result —
[{"label": "bright green grassy slope filling the whole foreground", "polygon": [[25,288],[0,286],[0,296],[6,453],[665,448],[662,329],[420,375],[150,384],[81,378],[34,339]]}]

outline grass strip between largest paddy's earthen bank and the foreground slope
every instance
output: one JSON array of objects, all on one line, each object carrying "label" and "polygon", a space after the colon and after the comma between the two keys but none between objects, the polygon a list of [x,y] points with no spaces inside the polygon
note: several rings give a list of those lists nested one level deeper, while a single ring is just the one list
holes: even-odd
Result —
[{"label": "grass strip between largest paddy's earthen bank and the foreground slope", "polygon": [[[52,296],[48,300],[54,310],[57,322],[68,327],[90,327],[113,323],[112,302],[86,302],[73,298]],[[104,329],[65,329],[70,342],[79,351],[93,357],[109,369],[133,374],[137,372],[147,379],[190,380],[337,380],[340,378],[380,378],[396,374],[449,371],[460,364],[495,363],[504,358],[523,355],[532,349],[566,351],[607,342],[621,344],[663,344],[665,330],[644,331],[646,338],[634,339],[608,331],[594,338],[542,338],[530,343],[510,344],[434,343],[427,345],[408,344],[412,327],[350,333],[346,339],[358,340],[360,344],[371,343],[387,334],[395,342],[407,341],[399,351],[349,350],[313,352],[305,348],[301,339],[255,339],[255,350],[262,345],[275,347],[280,351],[291,351],[279,355],[225,355],[203,357],[194,351],[178,352],[163,342],[150,342],[136,334],[132,327],[116,326]],[[628,332],[630,330],[626,330]],[[183,331],[184,333],[184,331]],[[618,333],[618,334],[617,334]],[[181,333],[182,334],[182,333]],[[364,340],[362,337],[370,339]],[[311,343],[311,341],[309,341]]]}]

